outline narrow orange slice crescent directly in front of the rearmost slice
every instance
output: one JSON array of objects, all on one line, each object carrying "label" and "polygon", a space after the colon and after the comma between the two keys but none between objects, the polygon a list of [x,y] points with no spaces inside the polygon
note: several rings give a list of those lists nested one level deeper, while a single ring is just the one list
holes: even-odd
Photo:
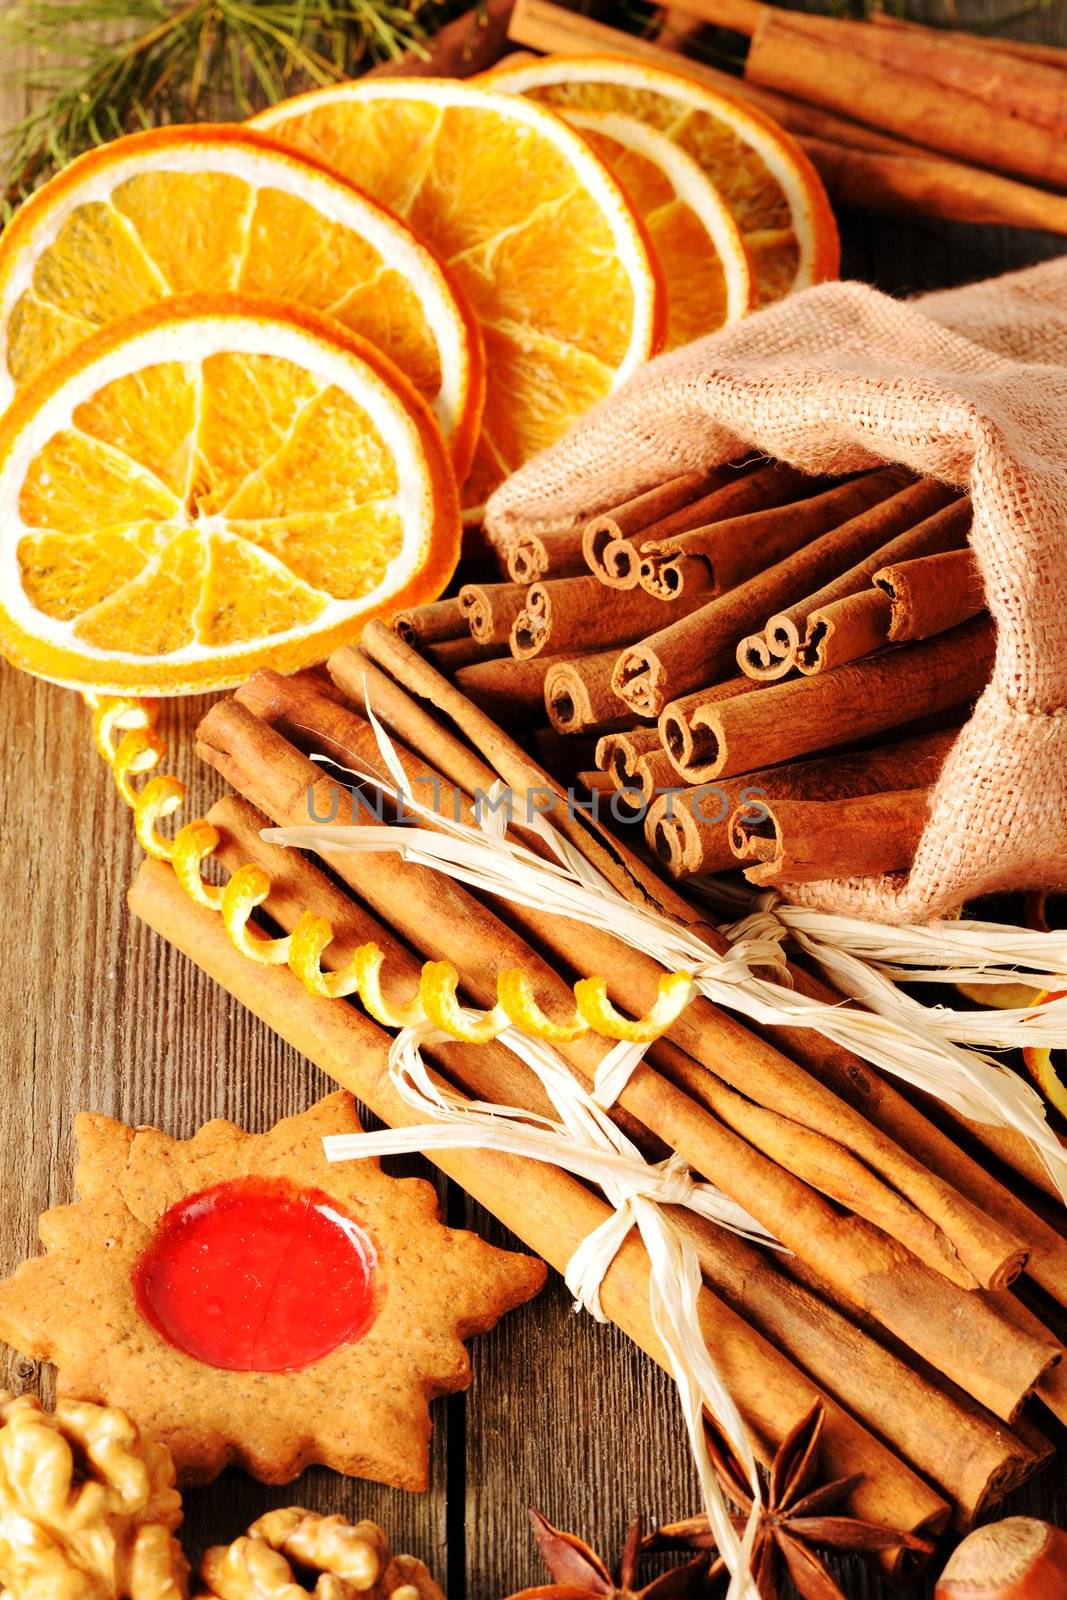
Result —
[{"label": "narrow orange slice crescent directly in front of the rearmost slice", "polygon": [[573,110],[566,120],[611,168],[645,224],[667,293],[664,349],[752,310],[755,280],[741,229],[693,157],[621,112]]}]

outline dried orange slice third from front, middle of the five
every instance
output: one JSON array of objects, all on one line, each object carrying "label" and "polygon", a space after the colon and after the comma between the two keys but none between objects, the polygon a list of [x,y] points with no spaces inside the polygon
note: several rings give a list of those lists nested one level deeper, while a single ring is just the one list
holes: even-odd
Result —
[{"label": "dried orange slice third from front, middle of the five", "polygon": [[254,126],[403,216],[466,291],[488,363],[469,509],[653,354],[662,294],[641,227],[589,144],[533,101],[365,78]]}]

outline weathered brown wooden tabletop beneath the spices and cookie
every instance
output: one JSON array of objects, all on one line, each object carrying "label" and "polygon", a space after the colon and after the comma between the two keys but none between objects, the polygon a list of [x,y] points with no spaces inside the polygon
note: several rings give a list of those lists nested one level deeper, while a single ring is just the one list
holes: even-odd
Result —
[{"label": "weathered brown wooden tabletop beneath the spices and cookie", "polygon": [[[966,0],[965,0],[966,5]],[[965,16],[993,14],[974,0]],[[912,14],[918,14],[913,8]],[[936,10],[931,6],[931,16]],[[1057,0],[1032,37],[1067,43]],[[0,98],[0,122],[21,110]],[[912,293],[1011,270],[1067,248],[1045,235],[843,214],[845,274]],[[194,770],[205,702],[171,709],[168,770],[206,805],[219,786]],[[330,1085],[307,1061],[130,918],[139,851],[75,694],[0,666],[0,1274],[37,1251],[37,1218],[72,1198],[72,1118],[93,1109],[189,1138],[211,1117],[250,1130],[307,1106]],[[187,816],[198,814],[195,810]],[[400,1163],[397,1170],[418,1170]],[[498,1224],[442,1186],[446,1219],[504,1242]],[[429,1562],[451,1600],[499,1600],[541,1571],[526,1507],[582,1533],[608,1558],[632,1514],[648,1523],[697,1507],[680,1411],[667,1378],[614,1328],[574,1315],[553,1280],[472,1346],[474,1387],[435,1406],[432,1490],[382,1490],[314,1469],[264,1488],[229,1472],[187,1498],[190,1555],[230,1539],[270,1506],[373,1517],[397,1549]],[[0,1387],[51,1376],[0,1350]],[[338,1397],[344,1405],[344,1397]],[[1061,1446],[1067,1443],[1061,1430]],[[1011,1510],[1067,1523],[1062,1461]],[[888,1595],[859,1566],[849,1600]],[[925,1590],[929,1592],[929,1590]]]}]

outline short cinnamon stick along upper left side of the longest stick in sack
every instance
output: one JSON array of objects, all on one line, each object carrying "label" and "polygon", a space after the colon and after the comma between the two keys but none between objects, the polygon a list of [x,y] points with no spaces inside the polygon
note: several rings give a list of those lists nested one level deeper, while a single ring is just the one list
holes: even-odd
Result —
[{"label": "short cinnamon stick along upper left side of the longest stick in sack", "polygon": [[550,650],[552,654],[587,654],[592,650],[632,643],[669,616],[688,616],[701,603],[681,595],[664,606],[654,595],[632,590],[625,600],[605,594],[597,578],[557,578],[533,584],[526,603],[515,614],[510,632],[512,654],[528,661]]}]

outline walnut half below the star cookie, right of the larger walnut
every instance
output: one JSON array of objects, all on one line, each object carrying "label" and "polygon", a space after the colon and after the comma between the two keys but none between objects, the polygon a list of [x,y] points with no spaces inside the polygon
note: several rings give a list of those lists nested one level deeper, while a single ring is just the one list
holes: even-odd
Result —
[{"label": "walnut half below the star cookie, right of the larger walnut", "polygon": [[298,1507],[267,1512],[245,1538],[208,1550],[202,1579],[197,1600],[445,1600],[422,1562],[394,1555],[376,1523]]}]

